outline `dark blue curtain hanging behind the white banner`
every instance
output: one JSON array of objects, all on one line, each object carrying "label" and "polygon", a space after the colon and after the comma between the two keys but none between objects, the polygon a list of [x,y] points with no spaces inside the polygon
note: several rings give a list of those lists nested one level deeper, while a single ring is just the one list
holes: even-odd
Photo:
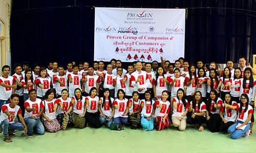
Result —
[{"label": "dark blue curtain hanging behind the white banner", "polygon": [[[256,1],[13,0],[12,63],[93,61],[94,7],[187,8],[185,59],[238,62],[256,54]],[[164,21],[163,21],[164,23]]]}]

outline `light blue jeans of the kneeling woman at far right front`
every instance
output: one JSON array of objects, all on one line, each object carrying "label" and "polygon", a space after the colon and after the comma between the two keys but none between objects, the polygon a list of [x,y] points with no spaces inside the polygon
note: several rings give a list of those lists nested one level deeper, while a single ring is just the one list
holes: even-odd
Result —
[{"label": "light blue jeans of the kneeling woman at far right front", "polygon": [[233,125],[231,125],[227,130],[228,133],[231,133],[232,139],[238,139],[238,138],[242,137],[244,135],[244,133],[246,133],[250,129],[250,123],[247,123],[244,130],[241,130],[241,129],[237,130],[236,127],[237,127],[238,123],[242,124],[243,122],[238,121],[238,122],[234,123]]}]

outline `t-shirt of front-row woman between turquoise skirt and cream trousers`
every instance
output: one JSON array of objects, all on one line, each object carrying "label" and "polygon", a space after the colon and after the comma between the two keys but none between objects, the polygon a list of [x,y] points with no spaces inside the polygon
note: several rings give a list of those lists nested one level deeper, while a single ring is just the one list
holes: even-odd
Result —
[{"label": "t-shirt of front-row woman between turquoise skirt and cream trousers", "polygon": [[[182,77],[183,78],[183,77]],[[157,116],[164,116],[165,114],[169,114],[169,111],[170,111],[170,102],[168,100],[166,101],[163,101],[163,100],[157,100],[155,105],[162,105],[162,108],[156,108],[156,111],[155,111],[155,115],[154,117],[157,117]]]}]

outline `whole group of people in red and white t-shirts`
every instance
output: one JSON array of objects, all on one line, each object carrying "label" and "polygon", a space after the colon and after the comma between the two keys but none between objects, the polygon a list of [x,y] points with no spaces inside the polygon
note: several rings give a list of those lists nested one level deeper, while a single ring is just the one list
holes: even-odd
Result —
[{"label": "whole group of people in red and white t-shirts", "polygon": [[[114,123],[130,123],[131,129],[163,130],[173,123],[184,131],[194,124],[204,131],[229,132],[232,139],[249,137],[254,122],[256,72],[246,59],[239,68],[227,61],[223,70],[211,62],[197,66],[183,58],[161,64],[134,62],[122,67],[120,60],[110,64],[69,62],[67,70],[57,62],[48,67],[28,62],[2,68],[0,77],[0,132],[12,142],[14,130],[28,137],[45,130],[57,132],[73,127],[111,128]],[[18,116],[19,122],[15,122]]]}]

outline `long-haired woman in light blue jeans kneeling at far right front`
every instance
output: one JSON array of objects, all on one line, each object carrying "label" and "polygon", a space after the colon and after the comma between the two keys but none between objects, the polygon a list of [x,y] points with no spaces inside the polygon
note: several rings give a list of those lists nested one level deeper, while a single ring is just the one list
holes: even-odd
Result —
[{"label": "long-haired woman in light blue jeans kneeling at far right front", "polygon": [[241,95],[240,104],[238,104],[237,111],[238,117],[237,122],[228,128],[228,133],[231,134],[232,139],[238,139],[242,136],[248,138],[250,135],[250,122],[253,114],[253,109],[249,105],[249,97],[243,93]]}]

